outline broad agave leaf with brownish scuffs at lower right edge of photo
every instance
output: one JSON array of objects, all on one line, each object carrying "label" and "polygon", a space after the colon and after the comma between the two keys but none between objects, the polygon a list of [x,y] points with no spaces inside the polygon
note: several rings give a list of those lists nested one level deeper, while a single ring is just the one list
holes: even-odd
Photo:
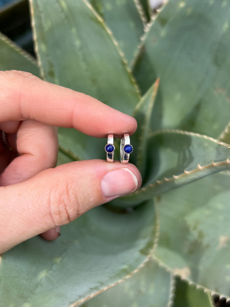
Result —
[{"label": "broad agave leaf with brownish scuffs at lower right edge of photo", "polygon": [[155,256],[175,274],[230,296],[230,177],[220,172],[158,197]]}]

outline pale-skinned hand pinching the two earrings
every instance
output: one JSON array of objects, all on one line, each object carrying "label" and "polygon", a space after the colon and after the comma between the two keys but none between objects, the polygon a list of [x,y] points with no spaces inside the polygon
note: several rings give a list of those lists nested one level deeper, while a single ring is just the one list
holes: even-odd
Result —
[{"label": "pale-skinned hand pinching the two earrings", "polygon": [[38,234],[57,239],[61,225],[141,186],[130,163],[87,160],[55,167],[58,126],[121,138],[137,124],[88,95],[29,73],[0,72],[0,129],[13,149],[0,142],[0,254]]}]

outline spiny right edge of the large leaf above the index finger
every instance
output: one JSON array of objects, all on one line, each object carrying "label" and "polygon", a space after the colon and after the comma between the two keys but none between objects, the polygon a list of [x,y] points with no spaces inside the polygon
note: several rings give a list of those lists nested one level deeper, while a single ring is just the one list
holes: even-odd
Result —
[{"label": "spiny right edge of the large leaf above the index finger", "polygon": [[[31,0],[30,0],[31,1]],[[136,93],[137,95],[139,96],[139,100],[141,99],[141,90],[140,90],[140,87],[139,85],[137,84],[132,72],[131,72],[131,69],[129,68],[129,65],[128,65],[128,61],[125,57],[125,54],[124,52],[121,50],[120,46],[119,46],[119,43],[117,41],[117,39],[114,37],[112,31],[109,29],[109,27],[105,24],[105,21],[104,19],[98,14],[98,12],[94,9],[94,7],[86,0],[82,0],[85,5],[91,10],[91,12],[93,12],[95,14],[95,16],[98,18],[98,20],[101,22],[101,24],[103,25],[104,29],[106,30],[106,32],[109,34],[112,42],[114,43],[114,46],[117,48],[117,51],[119,53],[119,55],[121,56],[121,60],[124,64],[124,67],[126,68],[127,72],[128,72],[128,75],[130,77],[130,80],[132,82],[132,84],[134,85],[135,89],[136,89]]]}]

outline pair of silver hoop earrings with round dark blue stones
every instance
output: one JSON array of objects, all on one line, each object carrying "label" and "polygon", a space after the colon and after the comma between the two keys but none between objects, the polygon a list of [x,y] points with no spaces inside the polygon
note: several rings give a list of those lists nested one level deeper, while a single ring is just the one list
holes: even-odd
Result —
[{"label": "pair of silver hoop earrings with round dark blue stones", "polygon": [[[113,144],[113,134],[108,134],[107,144],[105,145],[105,151],[107,156],[107,162],[113,162],[115,146]],[[125,133],[121,139],[120,145],[120,161],[121,163],[129,162],[129,155],[133,151],[133,147],[130,144],[129,134]]]}]

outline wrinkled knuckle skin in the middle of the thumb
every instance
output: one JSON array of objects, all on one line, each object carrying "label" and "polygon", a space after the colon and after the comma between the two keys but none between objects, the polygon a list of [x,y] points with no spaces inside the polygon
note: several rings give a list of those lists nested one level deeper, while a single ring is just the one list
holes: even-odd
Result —
[{"label": "wrinkled knuckle skin in the middle of the thumb", "polygon": [[71,223],[79,216],[76,189],[67,179],[62,179],[51,188],[49,207],[56,226]]}]

